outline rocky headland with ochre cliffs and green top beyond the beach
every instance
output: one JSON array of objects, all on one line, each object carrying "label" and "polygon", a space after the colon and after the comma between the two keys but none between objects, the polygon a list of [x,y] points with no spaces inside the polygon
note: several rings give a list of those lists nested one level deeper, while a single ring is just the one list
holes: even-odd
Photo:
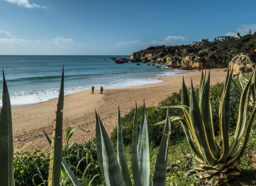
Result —
[{"label": "rocky headland with ochre cliffs and green top beyond the beach", "polygon": [[199,45],[151,46],[134,52],[130,58],[113,58],[116,63],[164,63],[178,69],[224,68],[234,65],[234,74],[254,69],[256,65],[256,32],[225,42],[204,41]]}]

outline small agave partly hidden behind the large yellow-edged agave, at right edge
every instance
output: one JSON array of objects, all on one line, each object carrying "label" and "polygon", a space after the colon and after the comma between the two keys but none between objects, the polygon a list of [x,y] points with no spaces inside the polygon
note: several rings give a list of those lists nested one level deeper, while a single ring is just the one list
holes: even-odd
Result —
[{"label": "small agave partly hidden behind the large yellow-edged agave, at right edge", "polygon": [[[255,102],[256,102],[256,72],[255,70],[252,73],[252,81],[251,81],[251,92],[250,92],[250,100],[249,100],[249,105],[250,106],[254,106]],[[236,81],[234,79],[232,79],[232,82],[234,83],[234,85],[236,86],[236,88],[242,93],[243,89],[245,88],[246,83],[248,82],[248,80],[246,78],[243,78],[242,73],[240,71],[239,73],[239,82],[240,85],[236,83]]]}]

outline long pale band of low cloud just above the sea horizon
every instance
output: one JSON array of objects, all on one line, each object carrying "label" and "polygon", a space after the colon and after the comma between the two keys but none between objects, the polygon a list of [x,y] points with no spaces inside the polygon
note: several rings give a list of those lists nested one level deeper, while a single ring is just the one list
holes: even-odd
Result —
[{"label": "long pale band of low cloud just above the sea horizon", "polygon": [[45,40],[17,39],[11,32],[0,30],[0,55],[129,55],[156,45],[181,45],[187,39],[167,36],[162,41],[119,41],[107,46],[85,45],[72,38],[55,37]]}]

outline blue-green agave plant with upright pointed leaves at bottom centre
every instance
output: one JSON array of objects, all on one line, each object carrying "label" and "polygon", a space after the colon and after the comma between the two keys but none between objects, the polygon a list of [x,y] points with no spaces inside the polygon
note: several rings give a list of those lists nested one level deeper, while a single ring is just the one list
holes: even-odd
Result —
[{"label": "blue-green agave plant with upright pointed leaves at bottom centre", "polygon": [[[118,108],[118,123],[117,123],[117,156],[112,146],[111,140],[95,112],[96,120],[96,146],[97,157],[100,164],[101,172],[104,175],[104,180],[107,186],[130,186],[132,185],[128,166],[124,153],[124,144],[122,139],[121,130],[121,117]],[[148,145],[148,124],[145,110],[145,103],[143,104],[142,119],[140,125],[139,140],[137,144],[137,126],[138,114],[137,105],[135,106],[134,125],[132,132],[131,144],[131,162],[132,162],[132,175],[136,186],[149,186],[151,185],[150,179],[150,157]],[[167,112],[167,119],[165,123],[164,135],[158,149],[156,157],[153,186],[165,186],[166,182],[166,169],[169,142],[171,137],[171,123],[170,117]]]}]

